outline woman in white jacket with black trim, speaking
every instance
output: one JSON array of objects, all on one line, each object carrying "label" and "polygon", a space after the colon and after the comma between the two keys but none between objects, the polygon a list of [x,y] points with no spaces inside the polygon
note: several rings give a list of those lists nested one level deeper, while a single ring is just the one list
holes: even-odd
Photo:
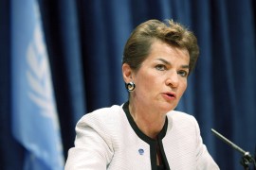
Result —
[{"label": "woman in white jacket with black trim, speaking", "polygon": [[173,21],[137,26],[122,61],[129,101],[82,117],[65,169],[219,169],[196,120],[174,110],[198,54],[192,32]]}]

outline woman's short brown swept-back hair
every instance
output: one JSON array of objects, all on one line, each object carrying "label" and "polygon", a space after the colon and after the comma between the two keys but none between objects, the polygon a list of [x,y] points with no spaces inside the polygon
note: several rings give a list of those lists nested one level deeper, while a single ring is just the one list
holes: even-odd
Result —
[{"label": "woman's short brown swept-back hair", "polygon": [[122,64],[127,63],[137,71],[148,57],[155,40],[187,49],[190,54],[190,73],[192,72],[199,56],[197,39],[192,31],[173,20],[166,20],[164,23],[149,20],[137,26],[124,46]]}]

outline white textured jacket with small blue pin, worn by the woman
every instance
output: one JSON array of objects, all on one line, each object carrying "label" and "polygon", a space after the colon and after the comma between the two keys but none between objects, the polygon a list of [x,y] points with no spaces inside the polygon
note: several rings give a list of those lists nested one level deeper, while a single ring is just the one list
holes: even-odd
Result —
[{"label": "white textured jacket with small blue pin, worn by the woman", "polygon": [[[144,135],[122,106],[85,114],[78,122],[76,132],[75,146],[68,151],[65,170],[157,169],[156,140]],[[219,169],[202,143],[192,115],[175,110],[168,112],[158,142],[167,169]]]}]

